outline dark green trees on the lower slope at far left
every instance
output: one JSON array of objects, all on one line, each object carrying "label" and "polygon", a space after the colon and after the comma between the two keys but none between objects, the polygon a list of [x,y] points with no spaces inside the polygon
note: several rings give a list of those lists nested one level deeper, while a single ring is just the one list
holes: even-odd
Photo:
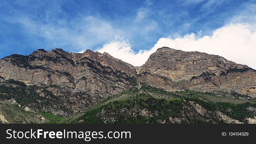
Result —
[{"label": "dark green trees on the lower slope at far left", "polygon": [[38,89],[38,86],[26,86],[26,84],[21,81],[9,79],[0,84],[0,99],[8,100],[14,98],[21,106],[30,106],[39,110],[43,107],[57,106],[57,109],[70,113],[71,110],[67,109],[66,106],[63,106],[61,97],[57,97],[47,89],[41,90],[41,93],[44,93],[45,95],[42,97],[37,93]]}]

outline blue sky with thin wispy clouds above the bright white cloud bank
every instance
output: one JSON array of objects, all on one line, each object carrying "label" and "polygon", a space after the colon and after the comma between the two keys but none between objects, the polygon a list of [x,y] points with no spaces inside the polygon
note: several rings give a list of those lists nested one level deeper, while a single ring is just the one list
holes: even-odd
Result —
[{"label": "blue sky with thin wispy clouds above the bright white cloud bank", "polygon": [[[78,52],[125,40],[133,53],[159,38],[212,36],[230,23],[255,29],[256,1],[0,1],[0,58],[39,48]],[[201,32],[200,32],[201,31]],[[118,38],[118,39],[117,39]]]}]

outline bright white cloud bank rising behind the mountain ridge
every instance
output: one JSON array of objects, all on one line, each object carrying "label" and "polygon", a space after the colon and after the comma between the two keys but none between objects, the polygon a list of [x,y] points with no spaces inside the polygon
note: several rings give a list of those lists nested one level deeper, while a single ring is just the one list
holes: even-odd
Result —
[{"label": "bright white cloud bank rising behind the mountain ridge", "polygon": [[172,39],[160,38],[150,50],[134,52],[128,40],[116,37],[109,43],[97,49],[101,53],[107,52],[115,58],[130,63],[134,66],[143,65],[150,54],[160,47],[170,47],[183,51],[200,51],[208,54],[220,55],[227,60],[246,64],[256,69],[256,32],[250,29],[247,23],[228,24],[216,29],[211,36],[200,38],[194,33]]}]

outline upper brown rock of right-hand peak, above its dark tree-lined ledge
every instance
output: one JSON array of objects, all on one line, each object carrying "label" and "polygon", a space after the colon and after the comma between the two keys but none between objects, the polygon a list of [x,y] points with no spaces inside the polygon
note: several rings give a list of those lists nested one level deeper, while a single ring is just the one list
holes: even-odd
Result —
[{"label": "upper brown rock of right-hand peak, above its dark tree-lined ledge", "polygon": [[174,81],[179,81],[190,79],[203,72],[220,75],[230,68],[244,69],[248,66],[228,61],[217,55],[162,47],[150,55],[147,62],[141,67],[141,72],[161,73]]}]

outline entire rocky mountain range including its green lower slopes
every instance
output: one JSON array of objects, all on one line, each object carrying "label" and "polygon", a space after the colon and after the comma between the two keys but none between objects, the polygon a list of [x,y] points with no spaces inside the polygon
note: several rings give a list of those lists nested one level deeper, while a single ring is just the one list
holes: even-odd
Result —
[{"label": "entire rocky mountain range including its green lower slopes", "polygon": [[[0,60],[0,102],[4,111],[14,111],[13,106],[16,106],[20,113],[30,109],[34,117],[31,120],[32,116],[23,115],[23,120],[15,121],[0,109],[2,122],[86,122],[83,114],[88,115],[86,111],[96,114],[97,109],[96,117],[102,120],[97,122],[103,123],[118,120],[129,123],[135,115],[138,118],[132,121],[134,123],[163,123],[164,120],[166,123],[247,123],[254,119],[255,97],[255,70],[221,56],[197,51],[162,47],[151,54],[141,67],[134,67],[106,52],[101,54],[89,49],[82,54],[62,49],[38,49],[28,56],[13,54]],[[15,103],[10,100],[15,100]],[[114,101],[117,102],[113,104]],[[125,105],[117,108],[122,105],[119,102]],[[173,115],[165,113],[160,107],[145,107],[152,105],[152,102],[163,103],[170,111],[176,111],[178,106],[179,111]],[[232,106],[241,104],[246,109],[241,108],[239,112],[244,115],[239,118],[234,116],[239,113],[235,110],[234,113],[226,113],[219,105],[214,106],[216,102],[230,106],[225,111],[232,111]],[[243,105],[245,103],[248,104]],[[172,105],[175,109],[169,107]],[[205,114],[196,110],[200,106]],[[209,110],[209,106],[217,109]],[[103,112],[106,108],[109,111],[100,116],[99,111]],[[125,112],[118,113],[120,111]],[[151,113],[154,119],[140,113],[131,115],[128,111]],[[180,119],[180,113],[187,115],[186,120]],[[114,118],[112,114],[119,116]],[[95,118],[95,115],[89,116]],[[131,119],[127,119],[128,116]]]}]

